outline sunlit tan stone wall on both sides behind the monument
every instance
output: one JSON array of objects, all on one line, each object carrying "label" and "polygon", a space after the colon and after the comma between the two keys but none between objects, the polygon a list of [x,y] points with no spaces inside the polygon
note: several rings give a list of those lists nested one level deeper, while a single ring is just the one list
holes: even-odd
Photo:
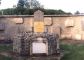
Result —
[{"label": "sunlit tan stone wall on both sides behind the monument", "polygon": [[[45,32],[58,33],[61,39],[84,40],[84,16],[45,15]],[[0,16],[0,40],[12,39],[15,34],[33,32],[34,17]]]}]

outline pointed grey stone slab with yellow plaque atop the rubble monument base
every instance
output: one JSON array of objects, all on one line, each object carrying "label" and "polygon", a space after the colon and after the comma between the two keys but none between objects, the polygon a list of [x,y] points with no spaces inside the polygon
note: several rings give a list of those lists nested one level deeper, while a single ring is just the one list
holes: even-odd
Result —
[{"label": "pointed grey stone slab with yellow plaque atop the rubble monument base", "polygon": [[44,32],[43,14],[40,10],[34,13],[34,32]]}]

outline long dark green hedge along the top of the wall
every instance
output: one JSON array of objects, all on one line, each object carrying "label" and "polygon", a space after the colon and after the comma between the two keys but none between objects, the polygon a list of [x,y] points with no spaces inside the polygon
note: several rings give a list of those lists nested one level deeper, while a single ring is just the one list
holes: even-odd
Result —
[{"label": "long dark green hedge along the top of the wall", "polygon": [[41,8],[35,8],[35,9],[26,9],[26,8],[10,8],[10,9],[4,9],[0,10],[0,15],[32,15],[36,10],[42,10],[45,15],[70,15],[71,13],[66,13],[62,10],[53,10],[53,9],[41,9]]}]

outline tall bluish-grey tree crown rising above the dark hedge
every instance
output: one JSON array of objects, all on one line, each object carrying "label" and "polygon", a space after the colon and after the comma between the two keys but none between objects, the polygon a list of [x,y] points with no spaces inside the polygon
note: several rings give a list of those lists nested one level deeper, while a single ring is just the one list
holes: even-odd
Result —
[{"label": "tall bluish-grey tree crown rising above the dark hedge", "polygon": [[17,7],[34,9],[34,8],[40,8],[41,5],[37,0],[19,0]]}]

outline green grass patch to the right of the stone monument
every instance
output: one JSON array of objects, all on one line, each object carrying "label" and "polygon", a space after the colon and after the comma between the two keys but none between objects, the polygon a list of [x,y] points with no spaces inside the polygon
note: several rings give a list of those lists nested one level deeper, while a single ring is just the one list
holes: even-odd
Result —
[{"label": "green grass patch to the right of the stone monument", "polygon": [[84,44],[61,44],[64,57],[61,60],[84,60]]}]

